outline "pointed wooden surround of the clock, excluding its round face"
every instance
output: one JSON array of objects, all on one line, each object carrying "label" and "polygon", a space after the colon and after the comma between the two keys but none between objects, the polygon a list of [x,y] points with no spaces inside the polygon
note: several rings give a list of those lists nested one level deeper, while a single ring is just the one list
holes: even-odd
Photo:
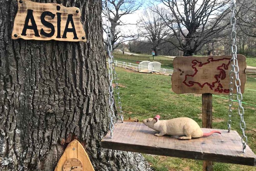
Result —
[{"label": "pointed wooden surround of the clock, excluding its round face", "polygon": [[87,155],[83,146],[77,140],[73,140],[67,145],[54,171],[63,171],[63,164],[67,159],[72,158],[79,159],[82,162],[83,171],[94,171],[89,156]]}]

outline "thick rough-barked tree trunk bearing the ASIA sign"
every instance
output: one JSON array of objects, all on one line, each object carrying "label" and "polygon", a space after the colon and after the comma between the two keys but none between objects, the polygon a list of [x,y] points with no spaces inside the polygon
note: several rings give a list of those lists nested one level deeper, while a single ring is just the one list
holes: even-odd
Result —
[{"label": "thick rough-barked tree trunk bearing the ASIA sign", "polygon": [[101,1],[37,2],[80,8],[87,42],[12,40],[17,1],[0,1],[1,171],[54,170],[73,139],[95,170],[150,170],[140,154],[101,148],[110,121]]}]

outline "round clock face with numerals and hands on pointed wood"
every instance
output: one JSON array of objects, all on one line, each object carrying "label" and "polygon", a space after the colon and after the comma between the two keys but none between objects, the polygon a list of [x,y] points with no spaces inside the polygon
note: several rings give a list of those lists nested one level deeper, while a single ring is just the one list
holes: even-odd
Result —
[{"label": "round clock face with numerals and hands on pointed wood", "polygon": [[83,171],[83,164],[79,159],[67,159],[63,165],[63,171]]}]

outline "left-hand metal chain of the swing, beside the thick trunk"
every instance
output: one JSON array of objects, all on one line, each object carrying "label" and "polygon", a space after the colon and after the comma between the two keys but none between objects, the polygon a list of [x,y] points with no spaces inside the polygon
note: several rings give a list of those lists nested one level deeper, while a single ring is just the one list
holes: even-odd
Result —
[{"label": "left-hand metal chain of the swing, beside the thick trunk", "polygon": [[112,82],[113,82],[113,77],[114,77],[114,82],[116,84],[116,93],[118,95],[118,106],[119,106],[119,111],[121,114],[121,121],[123,122],[123,111],[122,111],[122,104],[121,104],[121,98],[120,98],[120,89],[118,87],[118,83],[117,83],[117,74],[115,71],[115,62],[114,62],[114,57],[113,57],[113,47],[111,44],[111,30],[110,30],[110,22],[109,22],[109,11],[108,11],[108,4],[107,4],[107,0],[105,0],[105,11],[106,11],[106,26],[107,26],[107,42],[108,42],[108,66],[109,66],[109,105],[110,105],[110,111],[109,111],[109,115],[110,115],[110,119],[111,122],[109,124],[109,130],[110,130],[110,136],[112,138],[113,136],[113,130],[114,130],[114,123],[113,123],[113,118],[115,117],[115,112],[114,112],[114,95],[113,95],[113,91],[114,88],[112,86]]}]

